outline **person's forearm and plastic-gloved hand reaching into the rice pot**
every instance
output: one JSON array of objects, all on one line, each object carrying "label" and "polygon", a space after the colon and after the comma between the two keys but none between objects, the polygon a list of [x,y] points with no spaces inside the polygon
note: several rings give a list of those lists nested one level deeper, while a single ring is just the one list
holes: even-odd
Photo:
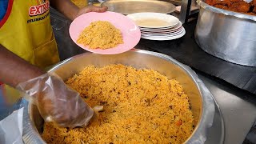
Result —
[{"label": "person's forearm and plastic-gloved hand reaching into the rice pot", "polygon": [[0,44],[0,81],[22,91],[22,96],[38,107],[46,122],[58,126],[87,126],[94,115],[79,96],[57,74],[31,65]]}]

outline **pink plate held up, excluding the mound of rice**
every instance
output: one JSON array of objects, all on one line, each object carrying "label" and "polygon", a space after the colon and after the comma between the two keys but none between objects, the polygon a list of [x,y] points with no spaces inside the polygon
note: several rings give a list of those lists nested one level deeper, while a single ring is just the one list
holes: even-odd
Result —
[{"label": "pink plate held up, excluding the mound of rice", "polygon": [[[108,21],[111,24],[113,24],[116,28],[121,30],[123,44],[106,50],[89,49],[88,46],[78,44],[77,39],[79,37],[79,34],[82,33],[82,30],[84,30],[86,26],[90,25],[90,22],[95,21]],[[138,44],[141,38],[141,31],[139,30],[138,26],[132,20],[130,20],[130,18],[122,14],[110,11],[104,13],[90,12],[82,14],[78,18],[74,19],[74,21],[70,25],[70,37],[78,46],[90,52],[97,54],[120,54],[130,49],[133,49],[134,46]]]}]

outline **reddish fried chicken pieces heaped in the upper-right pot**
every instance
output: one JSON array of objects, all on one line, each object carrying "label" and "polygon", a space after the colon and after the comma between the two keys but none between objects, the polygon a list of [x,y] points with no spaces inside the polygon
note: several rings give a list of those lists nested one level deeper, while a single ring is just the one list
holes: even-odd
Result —
[{"label": "reddish fried chicken pieces heaped in the upper-right pot", "polygon": [[206,0],[210,6],[243,14],[256,15],[256,0],[247,3],[243,0]]}]

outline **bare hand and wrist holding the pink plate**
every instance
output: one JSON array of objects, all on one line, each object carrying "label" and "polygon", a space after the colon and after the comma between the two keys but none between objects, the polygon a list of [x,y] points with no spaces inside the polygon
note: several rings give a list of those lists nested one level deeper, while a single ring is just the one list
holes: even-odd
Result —
[{"label": "bare hand and wrist holding the pink plate", "polygon": [[70,0],[50,0],[50,6],[54,7],[56,10],[64,14],[67,18],[74,20],[81,14],[88,12],[105,12],[107,10],[106,6],[86,6],[82,9],[79,9],[78,6],[75,6]]}]

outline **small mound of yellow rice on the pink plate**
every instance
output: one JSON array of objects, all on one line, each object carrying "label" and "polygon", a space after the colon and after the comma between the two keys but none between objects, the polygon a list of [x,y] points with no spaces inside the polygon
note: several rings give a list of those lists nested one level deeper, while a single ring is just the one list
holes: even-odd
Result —
[{"label": "small mound of yellow rice on the pink plate", "polygon": [[90,49],[110,49],[123,43],[122,33],[110,22],[91,22],[79,35],[78,43]]}]

